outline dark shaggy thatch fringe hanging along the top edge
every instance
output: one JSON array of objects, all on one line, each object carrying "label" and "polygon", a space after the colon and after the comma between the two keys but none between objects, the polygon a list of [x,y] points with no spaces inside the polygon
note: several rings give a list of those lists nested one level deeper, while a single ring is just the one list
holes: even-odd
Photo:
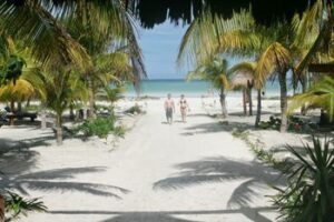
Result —
[{"label": "dark shaggy thatch fringe hanging along the top edge", "polygon": [[[53,0],[55,1],[55,0]],[[63,0],[58,0],[63,1]],[[252,11],[261,23],[269,23],[277,19],[291,19],[295,12],[302,12],[315,0],[124,0],[128,10],[145,28],[154,28],[169,20],[175,24],[186,24],[205,9],[229,18],[233,11],[242,8]]]}]

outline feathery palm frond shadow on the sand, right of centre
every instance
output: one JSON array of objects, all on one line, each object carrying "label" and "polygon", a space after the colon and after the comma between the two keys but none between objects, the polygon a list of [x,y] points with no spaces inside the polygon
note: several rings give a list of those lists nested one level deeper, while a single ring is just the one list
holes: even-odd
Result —
[{"label": "feathery palm frond shadow on the sand, right of centre", "polygon": [[154,183],[154,189],[173,191],[205,183],[245,180],[228,200],[227,208],[249,208],[252,200],[259,196],[267,185],[284,185],[281,173],[254,161],[230,160],[224,157],[206,158],[199,161],[175,165],[176,175]]}]

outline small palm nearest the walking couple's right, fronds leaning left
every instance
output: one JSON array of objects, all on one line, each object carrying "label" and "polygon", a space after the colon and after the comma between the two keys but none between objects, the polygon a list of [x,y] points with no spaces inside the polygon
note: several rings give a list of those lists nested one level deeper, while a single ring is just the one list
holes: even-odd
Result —
[{"label": "small palm nearest the walking couple's right, fronds leaning left", "polygon": [[222,115],[227,118],[226,90],[229,87],[227,61],[218,56],[213,60],[204,61],[196,70],[188,73],[187,80],[194,79],[209,81],[215,89],[219,90]]}]

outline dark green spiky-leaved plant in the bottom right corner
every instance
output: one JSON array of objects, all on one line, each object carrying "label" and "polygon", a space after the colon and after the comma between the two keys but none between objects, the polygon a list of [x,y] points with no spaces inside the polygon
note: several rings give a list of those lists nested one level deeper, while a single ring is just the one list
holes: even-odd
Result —
[{"label": "dark green spiky-leaved plant in the bottom right corner", "polygon": [[313,138],[313,148],[303,147],[306,155],[295,148],[287,150],[295,157],[284,174],[288,178],[287,188],[275,188],[278,194],[272,196],[285,221],[334,221],[334,150],[331,142]]}]

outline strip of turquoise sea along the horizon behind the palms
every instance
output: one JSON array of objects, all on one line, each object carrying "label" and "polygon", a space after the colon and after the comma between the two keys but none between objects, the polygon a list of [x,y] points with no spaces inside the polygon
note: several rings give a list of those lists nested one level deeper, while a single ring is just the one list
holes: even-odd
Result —
[{"label": "strip of turquoise sea along the horizon behind the palms", "polygon": [[[289,83],[288,83],[289,85]],[[166,97],[167,93],[171,93],[174,97],[185,94],[186,97],[195,98],[207,95],[210,91],[214,91],[215,95],[218,95],[218,91],[214,90],[209,82],[195,80],[143,80],[140,82],[140,97]],[[292,93],[292,89],[289,89]],[[126,97],[136,97],[137,93],[132,85],[127,85]],[[242,92],[230,91],[228,97],[242,97]],[[278,97],[279,84],[277,81],[268,81],[265,87],[266,97]]]}]

